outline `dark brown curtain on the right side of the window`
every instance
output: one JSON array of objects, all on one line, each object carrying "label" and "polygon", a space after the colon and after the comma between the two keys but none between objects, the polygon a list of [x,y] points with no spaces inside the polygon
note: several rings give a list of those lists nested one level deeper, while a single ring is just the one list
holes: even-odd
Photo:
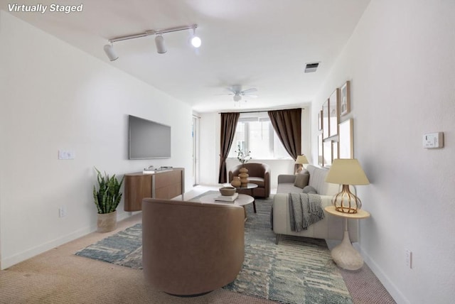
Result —
[{"label": "dark brown curtain on the right side of the window", "polygon": [[268,111],[267,114],[279,140],[295,161],[301,154],[301,109]]}]

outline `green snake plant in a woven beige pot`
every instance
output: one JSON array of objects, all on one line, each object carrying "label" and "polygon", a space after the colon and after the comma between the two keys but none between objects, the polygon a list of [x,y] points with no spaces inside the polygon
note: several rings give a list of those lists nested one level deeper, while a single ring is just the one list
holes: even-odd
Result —
[{"label": "green snake plant in a woven beige pot", "polygon": [[98,210],[97,232],[110,232],[117,226],[117,206],[122,199],[123,179],[119,181],[115,174],[109,177],[97,171],[97,186],[93,185],[93,200]]}]

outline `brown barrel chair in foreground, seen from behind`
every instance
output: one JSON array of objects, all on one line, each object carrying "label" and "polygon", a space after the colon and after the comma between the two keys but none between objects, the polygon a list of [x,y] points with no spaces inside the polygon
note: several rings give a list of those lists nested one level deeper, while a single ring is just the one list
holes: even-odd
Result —
[{"label": "brown barrel chair in foreground, seen from behind", "polygon": [[200,295],[235,280],[245,255],[242,207],[142,200],[144,278],[171,295]]}]

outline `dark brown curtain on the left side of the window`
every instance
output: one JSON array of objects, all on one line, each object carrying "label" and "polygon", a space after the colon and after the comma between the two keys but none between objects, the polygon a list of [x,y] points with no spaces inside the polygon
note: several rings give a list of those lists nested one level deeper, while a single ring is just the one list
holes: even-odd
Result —
[{"label": "dark brown curtain on the left side of the window", "polygon": [[240,113],[221,113],[220,175],[218,175],[218,183],[227,182],[226,158],[228,158],[230,146],[232,146],[239,116]]}]

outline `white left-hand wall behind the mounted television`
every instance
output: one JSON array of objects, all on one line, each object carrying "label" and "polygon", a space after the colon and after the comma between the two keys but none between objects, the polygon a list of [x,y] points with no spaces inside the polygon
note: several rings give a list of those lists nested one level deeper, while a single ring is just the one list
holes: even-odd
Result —
[{"label": "white left-hand wall behind the mounted television", "polygon": [[[96,229],[94,166],[183,167],[191,188],[191,107],[4,11],[0,44],[1,268]],[[171,159],[128,160],[128,114],[171,126]]]}]

